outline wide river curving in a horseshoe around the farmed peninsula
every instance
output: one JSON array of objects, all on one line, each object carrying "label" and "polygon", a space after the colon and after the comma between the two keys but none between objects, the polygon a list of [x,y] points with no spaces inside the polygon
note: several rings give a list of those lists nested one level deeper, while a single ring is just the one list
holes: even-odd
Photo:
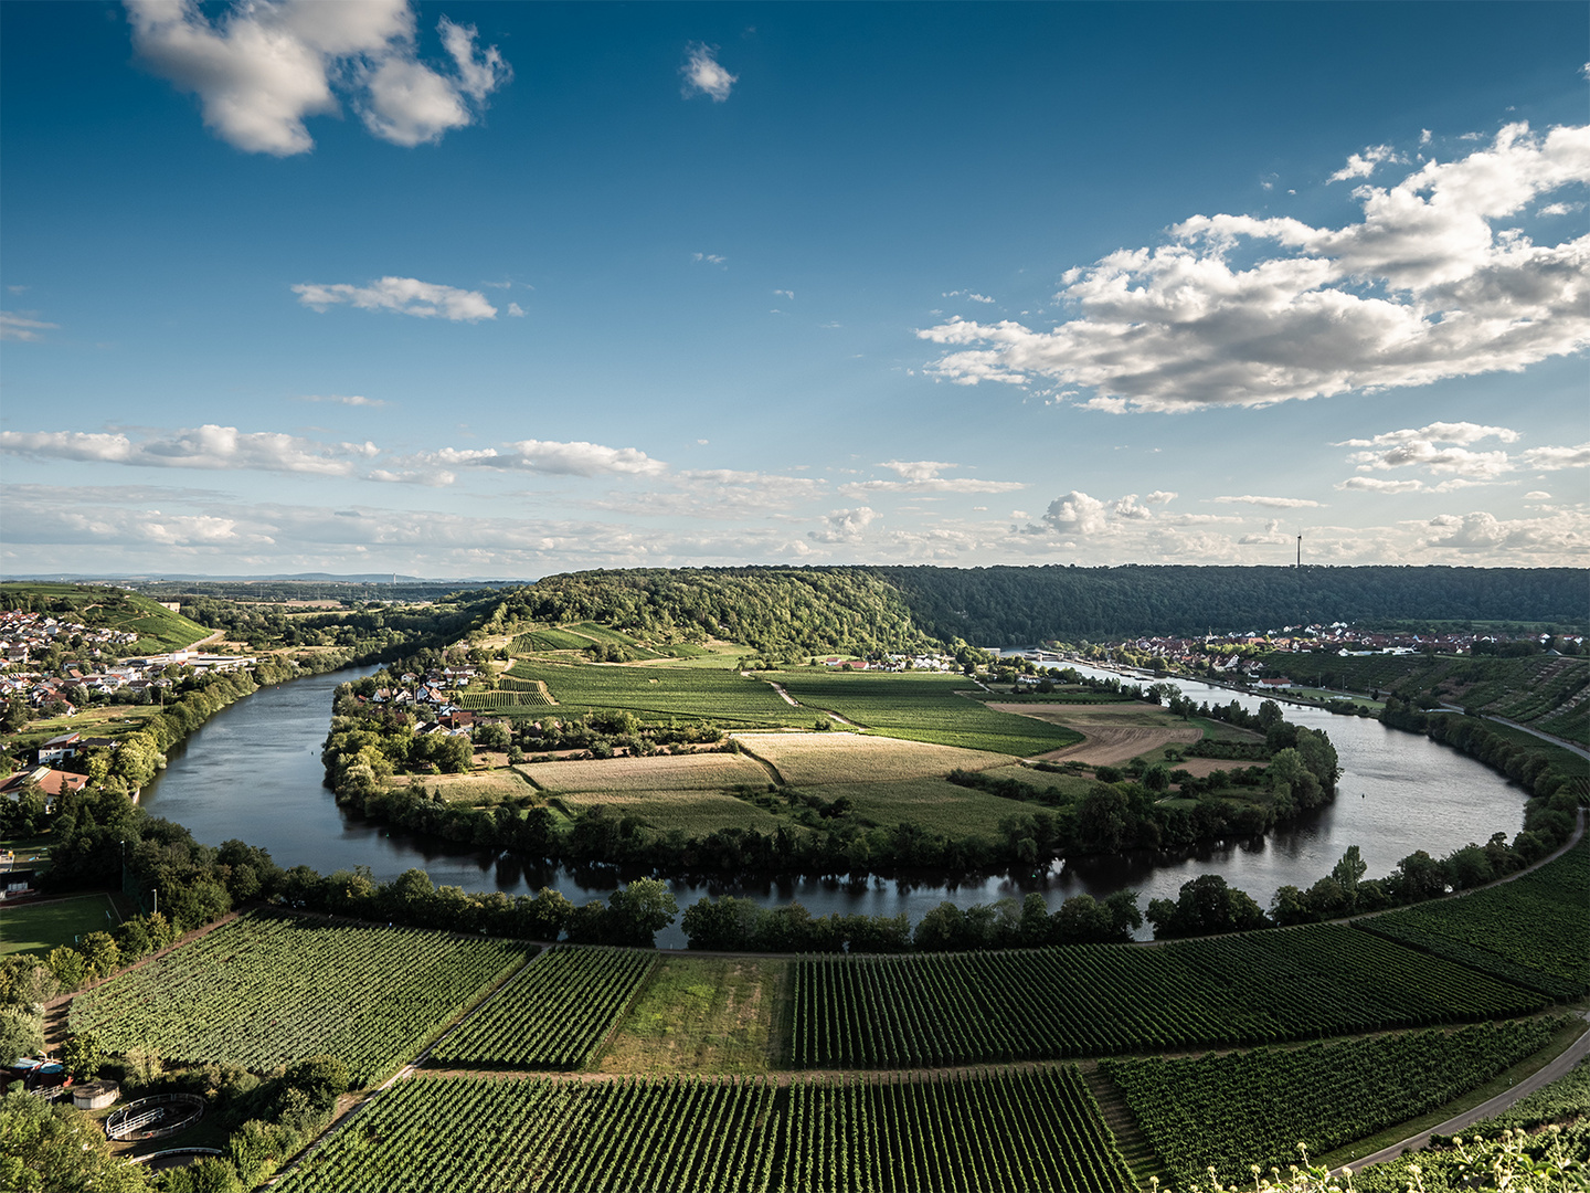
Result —
[{"label": "wide river curving in a horseshoe around the farmed peninsula", "polygon": [[[439,886],[509,894],[550,886],[576,903],[606,897],[614,889],[619,880],[611,873],[525,869],[510,857],[458,851],[456,846],[445,849],[437,841],[388,832],[345,814],[331,791],[321,786],[320,748],[331,721],[332,689],[364,674],[369,670],[348,668],[294,679],[221,709],[172,751],[170,765],[145,789],[143,806],[154,816],[184,824],[207,845],[238,838],[264,846],[283,867],[302,864],[331,873],[367,865],[382,881],[420,867]],[[1175,682],[1199,701],[1237,698],[1248,708],[1259,705],[1258,697]],[[1221,873],[1261,907],[1269,907],[1277,888],[1310,886],[1350,845],[1359,846],[1369,876],[1379,878],[1414,849],[1441,857],[1469,841],[1483,843],[1496,832],[1510,838],[1522,827],[1523,791],[1447,746],[1386,729],[1379,721],[1339,717],[1315,708],[1286,706],[1286,717],[1331,735],[1342,778],[1334,805],[1258,841],[1191,856],[1137,853],[1083,859],[1043,875],[997,875],[949,886],[881,878],[863,883],[674,881],[674,896],[681,908],[703,894],[736,894],[768,905],[798,899],[812,915],[905,911],[916,923],[946,899],[968,907],[1021,899],[1029,891],[1041,892],[1053,910],[1073,894],[1103,897],[1135,888],[1146,907],[1148,899],[1173,899],[1191,878]],[[1142,935],[1148,935],[1146,924]],[[658,934],[658,943],[684,946],[685,938],[676,924]]]}]

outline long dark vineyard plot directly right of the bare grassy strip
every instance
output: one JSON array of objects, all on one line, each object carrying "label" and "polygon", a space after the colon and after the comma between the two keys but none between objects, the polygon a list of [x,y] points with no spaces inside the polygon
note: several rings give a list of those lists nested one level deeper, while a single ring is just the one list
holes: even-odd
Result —
[{"label": "long dark vineyard plot directly right of the bare grassy strip", "polygon": [[1251,1045],[1525,1015],[1549,999],[1337,924],[793,962],[790,1061],[932,1067]]}]

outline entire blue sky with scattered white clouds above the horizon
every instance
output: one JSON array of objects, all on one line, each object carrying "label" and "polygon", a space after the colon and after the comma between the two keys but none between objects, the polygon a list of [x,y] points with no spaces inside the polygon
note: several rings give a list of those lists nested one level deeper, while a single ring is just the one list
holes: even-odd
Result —
[{"label": "entire blue sky with scattered white clouds above the horizon", "polygon": [[1587,32],[0,5],[0,566],[1582,563]]}]

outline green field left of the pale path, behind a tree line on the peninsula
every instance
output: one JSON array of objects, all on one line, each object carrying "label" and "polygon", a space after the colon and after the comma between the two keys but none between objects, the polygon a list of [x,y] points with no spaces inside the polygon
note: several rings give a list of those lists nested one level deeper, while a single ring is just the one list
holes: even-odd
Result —
[{"label": "green field left of the pale path, behind a tree line on the peninsula", "polygon": [[811,713],[790,708],[760,679],[746,679],[731,670],[520,659],[507,674],[544,681],[560,705],[553,716],[622,708],[641,721],[711,721],[731,727],[808,727],[812,721]]}]

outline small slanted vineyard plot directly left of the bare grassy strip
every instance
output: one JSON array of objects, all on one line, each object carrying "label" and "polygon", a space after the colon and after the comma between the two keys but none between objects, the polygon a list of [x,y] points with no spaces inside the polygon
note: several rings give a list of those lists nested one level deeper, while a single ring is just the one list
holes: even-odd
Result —
[{"label": "small slanted vineyard plot directly left of the bare grassy strip", "polygon": [[649,950],[552,948],[431,1055],[483,1069],[579,1069],[655,964]]}]

